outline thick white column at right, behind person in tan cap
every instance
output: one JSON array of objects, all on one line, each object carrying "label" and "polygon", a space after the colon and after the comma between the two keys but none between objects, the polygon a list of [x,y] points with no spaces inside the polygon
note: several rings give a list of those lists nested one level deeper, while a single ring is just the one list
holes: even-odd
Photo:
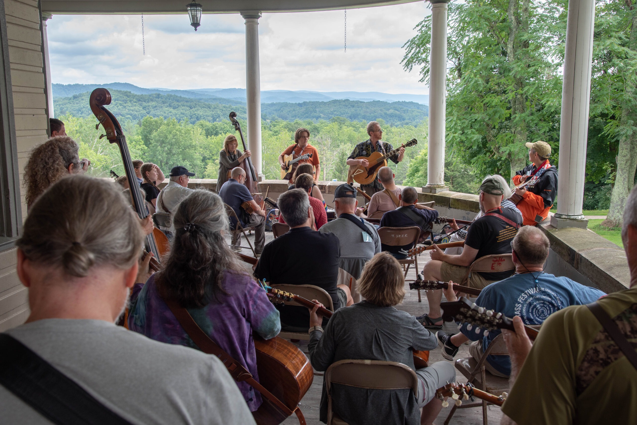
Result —
[{"label": "thick white column at right, behind person in tan cap", "polygon": [[586,227],[582,215],[589,128],[595,0],[570,0],[566,18],[555,227]]}]

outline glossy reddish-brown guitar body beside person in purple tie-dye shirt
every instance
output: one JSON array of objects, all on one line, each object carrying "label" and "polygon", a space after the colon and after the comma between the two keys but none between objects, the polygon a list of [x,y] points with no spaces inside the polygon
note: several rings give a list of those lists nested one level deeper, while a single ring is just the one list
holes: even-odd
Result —
[{"label": "glossy reddish-brown guitar body beside person in purple tie-dye shirt", "polygon": [[[264,340],[254,338],[257,351],[259,383],[294,410],[308,392],[314,372],[310,361],[295,345],[280,337]],[[259,425],[278,425],[287,415],[265,397],[259,410],[252,412]]]}]

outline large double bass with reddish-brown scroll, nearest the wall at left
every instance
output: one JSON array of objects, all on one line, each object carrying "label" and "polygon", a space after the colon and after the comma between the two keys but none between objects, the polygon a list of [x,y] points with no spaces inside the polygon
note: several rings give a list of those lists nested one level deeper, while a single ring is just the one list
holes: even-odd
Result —
[{"label": "large double bass with reddish-brown scroll, nearest the wall at left", "polygon": [[[117,118],[115,118],[108,109],[104,108],[104,105],[109,105],[111,103],[111,94],[108,90],[106,90],[106,88],[96,88],[90,94],[89,103],[90,110],[96,116],[97,121],[99,121],[99,123],[96,124],[95,129],[99,129],[99,125],[101,124],[102,127],[104,127],[104,131],[106,131],[106,134],[102,134],[99,138],[101,139],[102,137],[106,137],[110,143],[116,143],[120,149],[126,179],[128,180],[129,188],[131,188],[132,205],[140,219],[144,219],[148,216],[148,209],[144,203],[144,197],[141,195],[140,184],[138,183],[137,176],[135,175],[135,168],[132,165],[131,153],[129,152],[128,145],[126,144],[124,131],[122,130],[120,123],[117,121]],[[165,249],[168,246],[168,238],[166,238],[166,235],[164,235],[161,230],[154,227],[153,232],[150,233],[150,235],[147,235],[144,245],[146,251],[153,253],[155,257],[153,259],[154,261],[152,261],[151,267],[153,269],[159,269],[161,254],[165,252]],[[163,249],[160,249],[160,246]]]}]

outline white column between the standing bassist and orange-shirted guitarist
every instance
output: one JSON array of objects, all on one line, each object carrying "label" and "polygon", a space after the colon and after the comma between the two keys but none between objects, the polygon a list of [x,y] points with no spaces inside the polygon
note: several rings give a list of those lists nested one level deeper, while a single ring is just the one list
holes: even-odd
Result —
[{"label": "white column between the standing bassist and orange-shirted guitarist", "polygon": [[259,18],[260,11],[243,11],[245,19],[245,88],[248,113],[248,149],[252,151],[252,164],[261,172],[261,73],[259,71]]}]

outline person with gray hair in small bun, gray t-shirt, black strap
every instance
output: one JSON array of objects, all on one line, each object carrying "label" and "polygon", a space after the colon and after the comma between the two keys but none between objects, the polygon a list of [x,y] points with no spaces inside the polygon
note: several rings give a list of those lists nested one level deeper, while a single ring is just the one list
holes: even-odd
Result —
[{"label": "person with gray hair in small bun, gray t-shirt, black strap", "polygon": [[[112,183],[85,176],[55,183],[17,241],[31,314],[6,335],[131,424],[254,424],[215,356],[115,326],[130,288],[147,279],[150,255],[138,274],[141,240]],[[0,412],[3,424],[52,423],[4,386]]]}]

